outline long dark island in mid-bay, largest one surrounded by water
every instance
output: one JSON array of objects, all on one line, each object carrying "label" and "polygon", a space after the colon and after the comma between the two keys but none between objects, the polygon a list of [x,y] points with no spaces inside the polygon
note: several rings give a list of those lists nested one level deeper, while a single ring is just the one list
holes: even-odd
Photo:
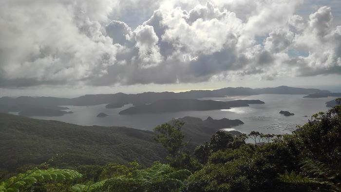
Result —
[{"label": "long dark island in mid-bay, largest one surrounded by water", "polygon": [[230,109],[230,107],[246,107],[248,104],[264,104],[260,100],[234,100],[214,101],[197,99],[165,99],[158,100],[148,105],[130,107],[119,112],[120,115],[165,113],[179,111],[208,111],[219,109]]}]

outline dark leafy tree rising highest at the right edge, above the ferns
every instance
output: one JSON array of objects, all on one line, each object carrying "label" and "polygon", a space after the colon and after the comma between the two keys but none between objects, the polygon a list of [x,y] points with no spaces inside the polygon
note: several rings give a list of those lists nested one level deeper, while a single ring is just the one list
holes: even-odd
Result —
[{"label": "dark leafy tree rising highest at the right edge, above the ferns", "polygon": [[[284,140],[301,158],[316,159],[341,167],[341,106],[315,114],[308,123]],[[294,149],[293,149],[294,150]]]}]

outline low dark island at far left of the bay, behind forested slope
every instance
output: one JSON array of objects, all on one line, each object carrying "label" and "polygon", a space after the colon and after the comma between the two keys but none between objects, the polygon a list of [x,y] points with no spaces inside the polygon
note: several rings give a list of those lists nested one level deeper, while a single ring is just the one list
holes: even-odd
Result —
[{"label": "low dark island at far left of the bay, behind forested slope", "polygon": [[56,109],[44,109],[44,108],[26,108],[19,112],[22,116],[62,116],[65,114],[72,114],[73,112],[61,111]]}]

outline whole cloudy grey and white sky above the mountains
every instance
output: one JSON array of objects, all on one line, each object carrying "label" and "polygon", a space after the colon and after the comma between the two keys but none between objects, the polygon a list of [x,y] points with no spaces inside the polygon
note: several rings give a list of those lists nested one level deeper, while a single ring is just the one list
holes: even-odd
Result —
[{"label": "whole cloudy grey and white sky above the mountains", "polygon": [[340,0],[1,0],[0,96],[338,91],[340,10]]}]

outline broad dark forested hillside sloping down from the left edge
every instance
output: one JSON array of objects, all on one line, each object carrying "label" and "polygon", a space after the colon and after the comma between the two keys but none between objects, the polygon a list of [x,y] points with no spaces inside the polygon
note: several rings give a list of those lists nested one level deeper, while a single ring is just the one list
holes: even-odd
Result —
[{"label": "broad dark forested hillside sloping down from the left edge", "polygon": [[126,127],[80,126],[0,113],[0,168],[40,164],[58,154],[56,165],[127,163],[150,165],[166,151],[154,133]]}]

